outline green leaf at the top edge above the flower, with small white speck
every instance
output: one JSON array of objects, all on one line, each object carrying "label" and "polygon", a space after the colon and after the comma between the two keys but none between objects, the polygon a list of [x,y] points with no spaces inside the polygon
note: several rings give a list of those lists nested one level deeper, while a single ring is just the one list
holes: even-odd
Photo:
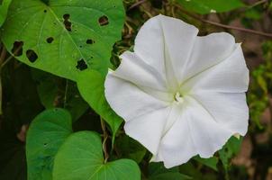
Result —
[{"label": "green leaf at the top edge above the flower, with small white speck", "polygon": [[177,0],[187,11],[197,14],[210,14],[228,12],[244,7],[240,0]]}]

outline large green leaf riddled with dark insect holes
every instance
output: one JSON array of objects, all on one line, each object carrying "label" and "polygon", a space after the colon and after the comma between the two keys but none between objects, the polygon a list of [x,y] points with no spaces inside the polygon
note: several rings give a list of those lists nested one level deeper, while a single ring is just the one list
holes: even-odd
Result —
[{"label": "large green leaf riddled with dark insect holes", "polygon": [[12,1],[2,28],[5,47],[29,66],[71,80],[89,69],[105,75],[121,38],[122,0],[47,2]]}]

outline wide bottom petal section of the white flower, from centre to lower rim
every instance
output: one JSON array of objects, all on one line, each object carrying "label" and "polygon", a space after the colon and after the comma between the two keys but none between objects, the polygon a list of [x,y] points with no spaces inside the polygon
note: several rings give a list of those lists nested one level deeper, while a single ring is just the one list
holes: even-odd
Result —
[{"label": "wide bottom petal section of the white flower, from centre to lower rim", "polygon": [[186,96],[186,106],[176,123],[161,139],[155,161],[166,167],[186,163],[191,157],[212,157],[234,134],[213,119],[195,99]]}]

